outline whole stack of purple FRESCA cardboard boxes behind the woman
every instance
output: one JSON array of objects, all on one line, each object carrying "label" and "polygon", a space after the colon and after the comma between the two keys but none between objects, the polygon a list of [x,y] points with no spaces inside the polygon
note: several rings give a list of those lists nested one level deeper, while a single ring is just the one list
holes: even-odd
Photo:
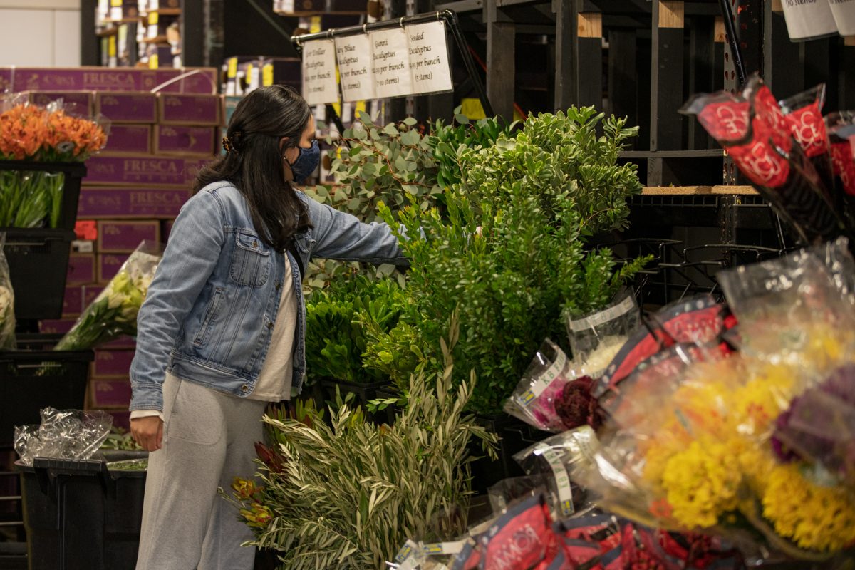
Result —
[{"label": "whole stack of purple FRESCA cardboard boxes behind the woman", "polygon": [[[0,91],[28,91],[39,104],[62,99],[70,112],[110,123],[80,189],[79,234],[89,247],[73,251],[62,319],[42,321],[42,332],[68,332],[140,242],[165,242],[198,169],[218,153],[225,106],[212,94],[217,70],[178,79],[191,71],[0,68]],[[133,351],[133,339],[120,338],[96,350],[90,370],[87,405],[109,410],[118,425],[127,426]]]}]

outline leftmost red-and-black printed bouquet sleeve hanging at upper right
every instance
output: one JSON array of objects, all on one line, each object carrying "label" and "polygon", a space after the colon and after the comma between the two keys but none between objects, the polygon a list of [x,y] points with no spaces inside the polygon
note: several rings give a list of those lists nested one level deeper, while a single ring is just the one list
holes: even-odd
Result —
[{"label": "leftmost red-and-black printed bouquet sleeve hanging at upper right", "polygon": [[[757,75],[739,95],[721,91],[695,96],[681,112],[697,115],[711,137],[728,151],[740,171],[805,244],[834,239],[846,232],[835,209],[833,189],[823,184],[811,158],[793,138],[793,127],[800,132],[799,125],[787,121],[769,87]],[[817,130],[818,122],[812,122],[810,128]],[[811,139],[805,140],[811,153],[824,146],[813,141],[811,132]]]}]

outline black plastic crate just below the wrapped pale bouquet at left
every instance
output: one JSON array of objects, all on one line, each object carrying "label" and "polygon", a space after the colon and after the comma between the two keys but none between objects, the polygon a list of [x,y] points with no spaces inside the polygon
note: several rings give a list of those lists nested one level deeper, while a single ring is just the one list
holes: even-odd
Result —
[{"label": "black plastic crate just below the wrapped pale bouquet at left", "polygon": [[56,336],[22,335],[19,350],[0,351],[0,444],[11,444],[14,426],[38,424],[39,410],[82,409],[91,350],[50,350]]}]

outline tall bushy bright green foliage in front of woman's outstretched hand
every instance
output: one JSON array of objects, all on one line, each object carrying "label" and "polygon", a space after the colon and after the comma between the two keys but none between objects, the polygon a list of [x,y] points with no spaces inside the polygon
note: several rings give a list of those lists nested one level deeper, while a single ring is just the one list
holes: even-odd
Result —
[{"label": "tall bushy bright green foliage in front of woman's outstretched hand", "polygon": [[587,248],[594,234],[627,226],[627,198],[641,189],[634,165],[616,164],[637,129],[603,119],[593,108],[529,116],[515,136],[458,147],[461,179],[445,191],[444,214],[380,205],[412,266],[398,324],[366,326],[368,367],[402,389],[410,373],[438,369],[457,310],[458,379],[474,369],[481,382],[470,408],[496,414],[543,338],[563,338],[564,311],[610,303],[645,260],[620,264],[608,249]]}]

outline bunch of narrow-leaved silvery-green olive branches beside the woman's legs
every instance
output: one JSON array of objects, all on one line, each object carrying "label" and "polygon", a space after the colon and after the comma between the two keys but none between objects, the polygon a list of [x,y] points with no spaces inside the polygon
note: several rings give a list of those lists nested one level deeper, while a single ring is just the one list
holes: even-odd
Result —
[{"label": "bunch of narrow-leaved silvery-green olive branches beside the woman's legs", "polygon": [[[374,570],[408,538],[450,540],[468,526],[470,442],[495,437],[464,412],[475,374],[454,383],[445,370],[410,382],[410,404],[392,426],[367,422],[345,404],[330,424],[312,408],[301,420],[266,416],[260,483],[236,479],[230,498],[254,530],[251,544],[274,549],[293,570]],[[457,384],[457,387],[455,387]]]}]

